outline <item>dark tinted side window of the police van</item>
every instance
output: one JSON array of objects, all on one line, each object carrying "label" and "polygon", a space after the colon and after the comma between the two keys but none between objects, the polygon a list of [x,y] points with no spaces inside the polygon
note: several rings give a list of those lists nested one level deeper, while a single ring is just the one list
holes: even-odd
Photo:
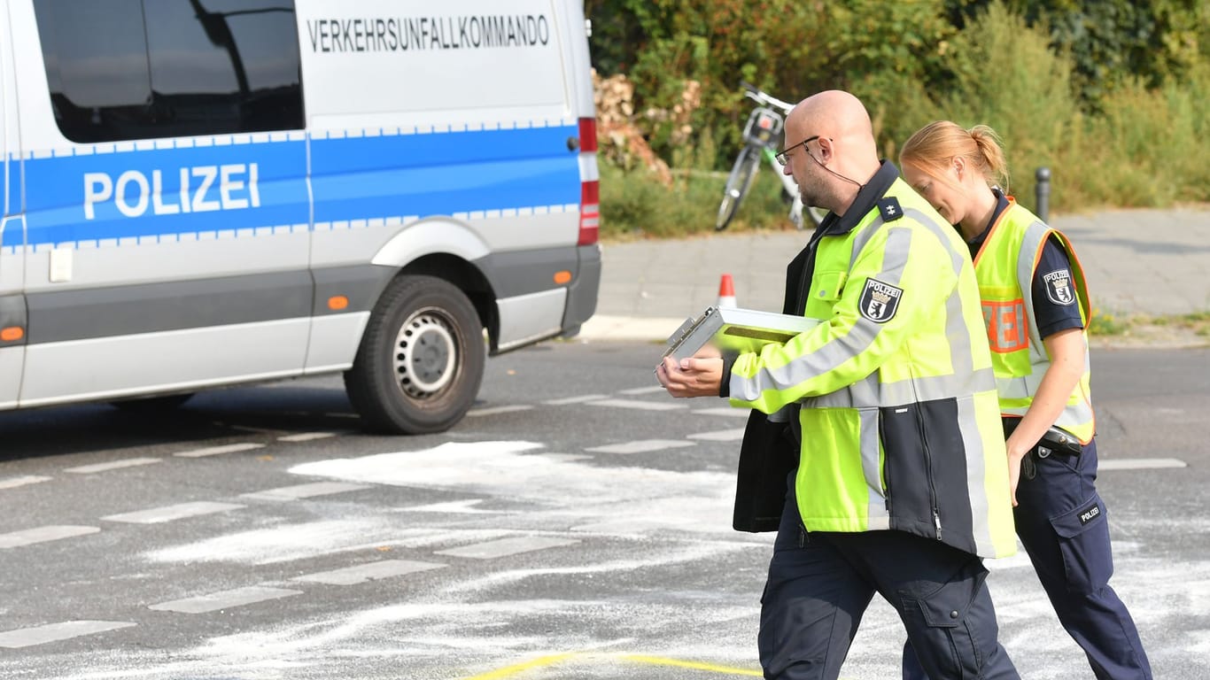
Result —
[{"label": "dark tinted side window of the police van", "polygon": [[301,129],[293,0],[35,0],[73,142]]}]

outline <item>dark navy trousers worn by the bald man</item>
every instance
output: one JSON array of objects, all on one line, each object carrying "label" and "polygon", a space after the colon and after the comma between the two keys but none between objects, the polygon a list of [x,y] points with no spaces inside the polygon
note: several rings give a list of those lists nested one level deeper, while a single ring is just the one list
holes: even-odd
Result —
[{"label": "dark navy trousers worn by the bald man", "polygon": [[836,680],[878,593],[899,612],[929,676],[1019,679],[997,641],[986,576],[978,557],[904,531],[808,534],[791,490],[761,597],[765,678]]}]

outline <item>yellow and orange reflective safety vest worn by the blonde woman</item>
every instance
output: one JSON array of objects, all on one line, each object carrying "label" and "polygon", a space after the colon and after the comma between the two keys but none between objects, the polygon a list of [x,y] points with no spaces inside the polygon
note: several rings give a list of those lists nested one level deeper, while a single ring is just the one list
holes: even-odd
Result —
[{"label": "yellow and orange reflective safety vest worn by the blonde woman", "polygon": [[1088,444],[1095,431],[1089,387],[1091,363],[1088,356],[1091,309],[1084,270],[1076,259],[1071,242],[1009,198],[1008,209],[999,214],[975,255],[975,278],[979,280],[984,319],[987,323],[999,410],[1006,416],[1024,416],[1033,403],[1042,376],[1050,368],[1050,355],[1047,353],[1035,323],[1032,286],[1042,248],[1051,236],[1058,237],[1067,252],[1071,278],[1062,277],[1064,272],[1054,272],[1058,278],[1045,282],[1048,295],[1059,301],[1066,301],[1064,296],[1074,296],[1084,321],[1084,374],[1054,425]]}]

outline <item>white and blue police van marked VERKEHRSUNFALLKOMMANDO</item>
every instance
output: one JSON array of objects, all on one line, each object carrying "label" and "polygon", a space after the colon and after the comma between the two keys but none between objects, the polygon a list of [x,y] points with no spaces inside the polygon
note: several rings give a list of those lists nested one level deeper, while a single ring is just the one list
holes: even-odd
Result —
[{"label": "white and blue police van marked VERKEHRSUNFALLKOMMANDO", "polygon": [[0,409],[450,427],[595,310],[590,77],[577,0],[0,0]]}]

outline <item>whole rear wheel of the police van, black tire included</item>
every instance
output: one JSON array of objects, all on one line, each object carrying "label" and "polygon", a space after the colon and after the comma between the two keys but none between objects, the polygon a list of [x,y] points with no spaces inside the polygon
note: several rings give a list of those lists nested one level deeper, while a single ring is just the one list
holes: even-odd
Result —
[{"label": "whole rear wheel of the police van, black tire included", "polygon": [[484,357],[471,300],[442,278],[403,275],[374,306],[345,391],[370,430],[444,432],[474,403]]}]

